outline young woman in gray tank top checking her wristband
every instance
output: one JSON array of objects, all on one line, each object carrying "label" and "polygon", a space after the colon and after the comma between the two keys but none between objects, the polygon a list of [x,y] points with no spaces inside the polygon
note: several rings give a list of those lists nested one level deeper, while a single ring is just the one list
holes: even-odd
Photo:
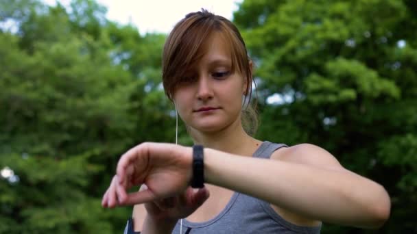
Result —
[{"label": "young woman in gray tank top checking her wristband", "polygon": [[[252,62],[226,18],[202,10],[174,27],[163,85],[195,146],[147,142],[121,157],[102,205],[134,205],[126,233],[320,233],[321,222],[388,219],[384,188],[323,148],[248,134]],[[128,194],[134,185],[141,190]]]}]

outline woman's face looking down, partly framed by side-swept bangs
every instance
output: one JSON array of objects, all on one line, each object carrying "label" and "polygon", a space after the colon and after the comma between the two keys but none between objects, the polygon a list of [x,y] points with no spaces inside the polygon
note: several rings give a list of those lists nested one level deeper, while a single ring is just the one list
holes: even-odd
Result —
[{"label": "woman's face looking down, partly framed by side-swept bangs", "polygon": [[174,91],[178,114],[197,131],[219,131],[240,121],[246,79],[236,69],[231,73],[230,49],[223,40],[213,35],[204,57]]}]

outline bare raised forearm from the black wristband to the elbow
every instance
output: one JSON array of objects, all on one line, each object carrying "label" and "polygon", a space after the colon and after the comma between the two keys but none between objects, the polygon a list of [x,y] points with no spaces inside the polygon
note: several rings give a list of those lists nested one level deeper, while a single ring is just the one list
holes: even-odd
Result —
[{"label": "bare raised forearm from the black wristband to the elbow", "polygon": [[[204,150],[207,183],[265,200],[304,216],[353,226],[379,226],[381,185],[353,172]],[[384,200],[385,199],[385,200]]]}]

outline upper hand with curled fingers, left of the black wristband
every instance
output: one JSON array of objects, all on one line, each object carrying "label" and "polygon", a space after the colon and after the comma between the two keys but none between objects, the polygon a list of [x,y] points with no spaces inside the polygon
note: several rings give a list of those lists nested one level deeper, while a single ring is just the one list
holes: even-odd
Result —
[{"label": "upper hand with curled fingers, left of the black wristband", "polygon": [[[134,205],[174,197],[191,179],[192,149],[176,144],[144,143],[119,159],[117,175],[104,194],[102,205]],[[135,185],[147,190],[126,194]]]}]

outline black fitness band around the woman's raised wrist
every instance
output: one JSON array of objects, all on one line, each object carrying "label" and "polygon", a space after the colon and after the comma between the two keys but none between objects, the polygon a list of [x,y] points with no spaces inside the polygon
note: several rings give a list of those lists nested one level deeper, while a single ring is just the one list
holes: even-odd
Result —
[{"label": "black fitness band around the woman's raised wrist", "polygon": [[203,146],[196,144],[193,146],[193,177],[191,187],[204,187],[204,152]]}]

